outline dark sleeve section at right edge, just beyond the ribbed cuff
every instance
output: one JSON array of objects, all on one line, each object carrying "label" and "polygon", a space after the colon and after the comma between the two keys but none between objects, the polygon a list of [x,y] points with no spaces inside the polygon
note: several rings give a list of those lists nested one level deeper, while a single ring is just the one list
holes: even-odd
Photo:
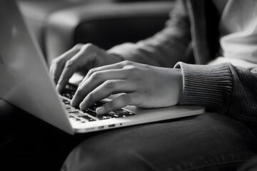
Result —
[{"label": "dark sleeve section at right edge, just beyond the ribbed cuff", "polygon": [[231,106],[227,115],[257,128],[257,68],[248,70],[229,64],[233,77]]}]

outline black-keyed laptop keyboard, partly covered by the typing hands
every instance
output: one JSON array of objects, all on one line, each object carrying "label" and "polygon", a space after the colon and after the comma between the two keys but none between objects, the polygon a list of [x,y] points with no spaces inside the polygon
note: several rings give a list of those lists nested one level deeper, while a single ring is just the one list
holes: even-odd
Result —
[{"label": "black-keyed laptop keyboard, partly covered by the typing hands", "polygon": [[68,84],[64,90],[64,93],[61,94],[60,98],[64,104],[64,108],[66,110],[66,114],[72,120],[76,120],[79,123],[87,123],[96,120],[106,120],[112,118],[126,118],[131,115],[135,115],[135,113],[131,113],[124,109],[113,110],[110,113],[106,113],[105,115],[97,115],[96,108],[104,105],[102,102],[96,102],[90,108],[86,110],[80,110],[79,108],[74,108],[70,105],[71,99],[74,97],[77,87]]}]

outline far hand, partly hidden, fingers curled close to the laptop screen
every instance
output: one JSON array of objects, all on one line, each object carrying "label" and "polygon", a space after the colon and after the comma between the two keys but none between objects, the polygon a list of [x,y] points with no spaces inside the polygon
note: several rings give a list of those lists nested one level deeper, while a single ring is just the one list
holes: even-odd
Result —
[{"label": "far hand, partly hidden, fingers curled close to the laptop screen", "polygon": [[91,43],[77,44],[66,53],[54,58],[50,75],[57,84],[56,89],[61,92],[76,71],[84,70],[84,73],[87,73],[91,68],[120,61],[122,61],[121,58],[108,54]]}]

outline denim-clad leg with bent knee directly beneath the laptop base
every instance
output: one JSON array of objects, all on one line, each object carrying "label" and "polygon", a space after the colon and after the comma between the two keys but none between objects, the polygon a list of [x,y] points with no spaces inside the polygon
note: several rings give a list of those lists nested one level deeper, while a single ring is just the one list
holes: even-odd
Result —
[{"label": "denim-clad leg with bent knee directly beneath the laptop base", "polygon": [[63,171],[236,170],[257,154],[246,126],[216,113],[110,130],[74,149]]}]

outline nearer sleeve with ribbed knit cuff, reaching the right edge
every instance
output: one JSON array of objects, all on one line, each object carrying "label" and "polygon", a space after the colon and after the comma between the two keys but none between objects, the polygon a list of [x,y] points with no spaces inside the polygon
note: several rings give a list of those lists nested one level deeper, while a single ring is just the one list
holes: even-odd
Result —
[{"label": "nearer sleeve with ribbed knit cuff, reaching the right edge", "polygon": [[213,66],[177,63],[183,73],[181,105],[203,105],[207,110],[257,123],[257,68],[221,63]]}]

